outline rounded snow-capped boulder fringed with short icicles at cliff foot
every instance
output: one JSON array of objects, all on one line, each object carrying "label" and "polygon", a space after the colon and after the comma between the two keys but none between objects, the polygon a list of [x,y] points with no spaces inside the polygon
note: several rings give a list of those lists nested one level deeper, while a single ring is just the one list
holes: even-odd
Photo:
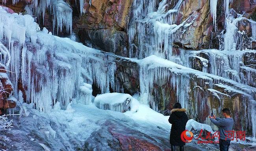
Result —
[{"label": "rounded snow-capped boulder fringed with short icicles at cliff foot", "polygon": [[105,93],[98,95],[94,99],[94,104],[99,109],[126,112],[129,110],[130,103],[133,101],[131,95],[122,93]]}]

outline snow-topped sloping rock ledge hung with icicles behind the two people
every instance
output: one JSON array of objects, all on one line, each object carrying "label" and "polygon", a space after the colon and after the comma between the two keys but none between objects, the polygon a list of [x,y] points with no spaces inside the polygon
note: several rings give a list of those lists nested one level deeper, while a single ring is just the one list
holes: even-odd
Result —
[{"label": "snow-topped sloping rock ledge hung with icicles behind the two people", "polygon": [[[230,102],[236,102],[232,108],[234,114],[239,115],[236,120],[243,121],[243,129],[253,131],[255,136],[255,108],[256,108],[256,88],[250,87],[228,78],[200,72],[191,68],[184,67],[174,62],[149,56],[141,60],[140,64],[140,91],[143,96],[142,102],[150,105],[157,110],[162,99],[163,93],[167,91],[174,102],[180,102],[182,107],[187,109],[191,116],[198,117],[200,122],[205,122],[205,114],[211,107],[216,113],[220,114],[223,106]],[[155,97],[156,95],[161,97]],[[170,100],[166,100],[168,102]],[[173,102],[173,103],[174,103]],[[218,102],[218,103],[217,103]],[[219,104],[216,106],[216,104]],[[168,106],[168,104],[167,104]],[[241,108],[237,108],[243,106]],[[209,108],[208,108],[209,109]],[[245,116],[247,114],[248,116]]]}]

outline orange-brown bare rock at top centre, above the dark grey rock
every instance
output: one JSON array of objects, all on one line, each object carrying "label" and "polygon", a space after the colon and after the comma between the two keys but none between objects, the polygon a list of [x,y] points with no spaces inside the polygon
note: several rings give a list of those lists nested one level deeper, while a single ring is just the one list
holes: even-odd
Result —
[{"label": "orange-brown bare rock at top centre, above the dark grey rock", "polygon": [[[74,3],[71,1],[71,4]],[[118,29],[122,31],[128,21],[132,0],[89,0],[85,1],[84,14],[80,18],[79,28]],[[74,4],[72,4],[74,5]]]}]

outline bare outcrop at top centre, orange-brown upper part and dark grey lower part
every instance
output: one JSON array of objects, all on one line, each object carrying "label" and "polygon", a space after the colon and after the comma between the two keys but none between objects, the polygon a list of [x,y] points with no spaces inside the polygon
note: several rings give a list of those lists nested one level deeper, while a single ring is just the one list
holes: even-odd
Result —
[{"label": "bare outcrop at top centre, orange-brown upper part and dark grey lower part", "polygon": [[[128,14],[132,0],[85,0],[83,15],[75,18],[75,31],[83,44],[126,56]],[[76,7],[74,1],[70,1]],[[77,8],[76,8],[77,9]]]}]

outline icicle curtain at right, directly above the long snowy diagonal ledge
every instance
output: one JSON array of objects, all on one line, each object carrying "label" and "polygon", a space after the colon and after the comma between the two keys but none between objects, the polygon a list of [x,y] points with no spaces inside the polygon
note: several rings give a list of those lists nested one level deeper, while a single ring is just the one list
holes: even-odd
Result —
[{"label": "icicle curtain at right, directly above the long snowy diagonal ledge", "polygon": [[[226,51],[217,49],[202,49],[200,51],[188,51],[181,49],[181,54],[172,60],[177,64],[195,69],[193,64],[198,59],[204,73],[221,76],[236,82],[256,87],[256,70],[243,64],[244,57],[254,54],[253,50]],[[202,55],[203,54],[203,55]],[[203,57],[206,56],[206,58]]]}]

